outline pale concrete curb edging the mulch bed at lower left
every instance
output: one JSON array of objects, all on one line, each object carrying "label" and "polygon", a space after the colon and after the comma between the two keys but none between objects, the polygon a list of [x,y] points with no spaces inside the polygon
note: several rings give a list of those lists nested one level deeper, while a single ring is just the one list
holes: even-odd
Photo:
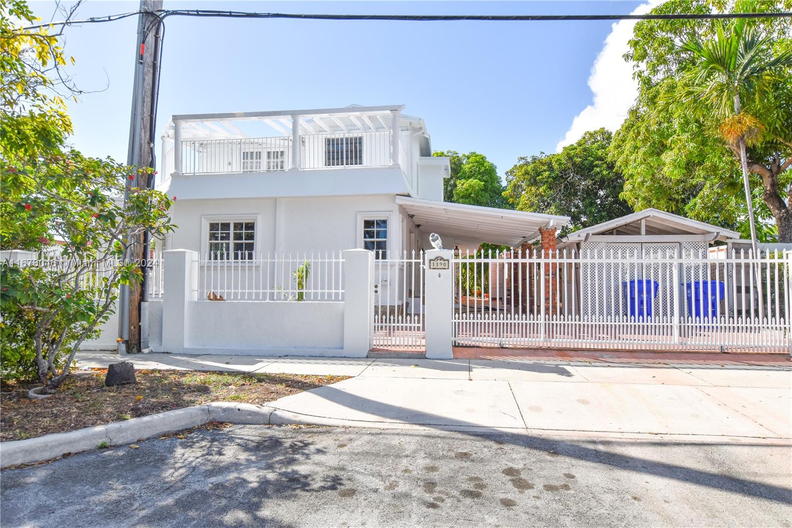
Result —
[{"label": "pale concrete curb edging the mulch bed at lower left", "polygon": [[271,407],[218,402],[160,412],[104,426],[86,427],[68,433],[0,442],[0,468],[51,460],[67,453],[93,450],[103,442],[108,446],[121,446],[162,434],[176,433],[207,422],[265,425],[269,423],[271,414]]}]

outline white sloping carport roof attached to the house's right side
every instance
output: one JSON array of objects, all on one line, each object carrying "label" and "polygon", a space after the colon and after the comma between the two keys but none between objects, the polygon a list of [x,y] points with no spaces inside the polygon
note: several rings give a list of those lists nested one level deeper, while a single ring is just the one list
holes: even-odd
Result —
[{"label": "white sloping carport roof attached to the house's right side", "polygon": [[539,236],[539,228],[562,228],[569,216],[512,211],[478,205],[397,196],[396,203],[424,232],[518,246]]}]

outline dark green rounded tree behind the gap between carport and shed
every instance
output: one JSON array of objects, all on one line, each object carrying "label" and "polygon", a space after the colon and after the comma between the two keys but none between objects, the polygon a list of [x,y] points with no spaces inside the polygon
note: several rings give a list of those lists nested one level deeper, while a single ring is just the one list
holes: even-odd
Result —
[{"label": "dark green rounded tree behind the gap between carport and shed", "polygon": [[564,232],[629,214],[630,205],[619,197],[623,176],[608,159],[611,139],[600,128],[557,154],[520,158],[506,172],[505,197],[520,211],[569,216]]}]

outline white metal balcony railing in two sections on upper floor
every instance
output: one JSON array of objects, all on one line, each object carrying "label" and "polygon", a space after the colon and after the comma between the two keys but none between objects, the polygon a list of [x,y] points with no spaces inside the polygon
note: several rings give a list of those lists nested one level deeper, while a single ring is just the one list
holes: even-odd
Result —
[{"label": "white metal balcony railing in two sections on upper floor", "polygon": [[[183,174],[273,172],[292,168],[290,136],[181,141]],[[390,132],[299,136],[299,169],[389,166]]]}]

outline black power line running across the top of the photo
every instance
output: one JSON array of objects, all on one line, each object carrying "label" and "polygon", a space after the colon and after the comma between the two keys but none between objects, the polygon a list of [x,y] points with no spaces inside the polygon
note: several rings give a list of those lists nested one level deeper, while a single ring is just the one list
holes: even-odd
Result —
[{"label": "black power line running across the top of the photo", "polygon": [[[133,17],[143,11],[131,11],[90,17],[79,21],[60,21],[25,27],[25,30],[48,27],[50,25],[78,25],[98,22],[112,22]],[[493,22],[539,22],[539,21],[619,21],[619,20],[722,20],[736,18],[790,18],[792,12],[772,13],[645,13],[645,14],[534,14],[534,15],[403,15],[403,14],[320,14],[320,13],[258,13],[255,11],[222,10],[157,10],[160,19],[166,17],[222,17],[222,18],[286,18],[292,20],[328,21],[493,21]]]}]

